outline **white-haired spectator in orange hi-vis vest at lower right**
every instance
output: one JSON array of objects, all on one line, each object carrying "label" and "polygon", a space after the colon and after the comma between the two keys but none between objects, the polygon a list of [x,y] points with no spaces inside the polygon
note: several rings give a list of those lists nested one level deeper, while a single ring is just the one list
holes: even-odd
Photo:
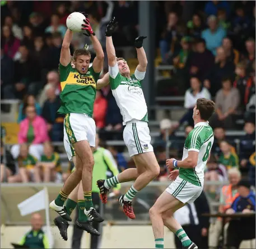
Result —
[{"label": "white-haired spectator in orange hi-vis vest at lower right", "polygon": [[[238,194],[238,183],[241,180],[241,173],[238,169],[232,168],[228,172],[229,185],[222,186],[220,192],[220,206],[218,207],[219,213],[225,213],[227,209],[231,207],[231,204],[239,196]],[[224,227],[224,241],[226,241],[226,230],[227,226]],[[214,224],[212,224],[212,247],[218,246],[218,239],[222,231],[222,219],[218,218]]]}]

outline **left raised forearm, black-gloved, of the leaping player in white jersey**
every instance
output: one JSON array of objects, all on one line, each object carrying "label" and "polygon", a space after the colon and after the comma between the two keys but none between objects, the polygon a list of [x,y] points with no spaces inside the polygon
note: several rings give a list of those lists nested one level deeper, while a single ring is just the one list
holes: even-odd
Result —
[{"label": "left raised forearm, black-gloved, of the leaping player in white jersey", "polygon": [[117,64],[117,58],[115,56],[115,48],[112,41],[112,33],[117,27],[118,22],[115,22],[115,17],[109,22],[108,26],[106,27],[106,54],[108,55],[108,64],[109,66],[114,66]]}]

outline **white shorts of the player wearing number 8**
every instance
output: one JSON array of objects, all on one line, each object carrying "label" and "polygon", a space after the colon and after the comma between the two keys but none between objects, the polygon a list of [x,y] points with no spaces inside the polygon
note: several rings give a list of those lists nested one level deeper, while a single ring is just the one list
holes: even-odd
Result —
[{"label": "white shorts of the player wearing number 8", "polygon": [[193,203],[203,190],[202,186],[196,186],[179,176],[165,190],[182,203]]}]

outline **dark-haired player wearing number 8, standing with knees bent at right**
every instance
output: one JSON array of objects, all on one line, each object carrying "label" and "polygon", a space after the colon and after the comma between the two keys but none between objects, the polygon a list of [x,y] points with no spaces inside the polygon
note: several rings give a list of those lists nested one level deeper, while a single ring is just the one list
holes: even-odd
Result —
[{"label": "dark-haired player wearing number 8, standing with knees bent at right", "polygon": [[155,236],[155,248],[164,248],[164,226],[179,238],[183,248],[198,248],[173,218],[176,210],[187,203],[193,203],[203,190],[204,167],[210,158],[213,144],[212,127],[208,120],[215,109],[215,103],[205,98],[197,99],[193,109],[194,129],[185,140],[181,161],[167,159],[171,171],[169,178],[173,183],[160,195],[150,209],[150,219]]}]

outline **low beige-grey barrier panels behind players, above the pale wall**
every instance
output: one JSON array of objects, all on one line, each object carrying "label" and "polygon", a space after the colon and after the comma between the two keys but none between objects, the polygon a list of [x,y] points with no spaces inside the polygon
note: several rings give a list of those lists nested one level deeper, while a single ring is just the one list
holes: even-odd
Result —
[{"label": "low beige-grey barrier panels behind players, above the pale wall", "polygon": [[[132,185],[132,182],[122,183],[121,193],[124,194]],[[136,213],[136,221],[133,224],[148,224],[150,218],[148,216],[148,210],[155,203],[156,199],[170,184],[170,181],[152,181],[146,186],[145,189],[139,191],[134,199],[134,212]],[[220,188],[226,183],[220,182],[207,182],[205,185],[216,185]],[[38,191],[42,190],[44,186],[47,187],[49,193],[49,200],[53,200],[57,197],[59,190],[62,188],[62,184],[48,183],[48,184],[1,184],[1,222],[2,224],[29,224],[30,216],[20,216],[20,212],[17,208],[17,204],[23,200],[31,197]],[[211,209],[217,210],[219,205],[218,200],[213,200],[207,194]],[[40,211],[40,214],[44,217],[44,211]],[[73,215],[73,214],[72,214]],[[56,213],[50,212],[50,221],[53,222]],[[118,203],[117,197],[109,197],[108,203],[105,205],[105,221],[114,224],[127,224],[127,217],[123,214],[122,208]]]}]

